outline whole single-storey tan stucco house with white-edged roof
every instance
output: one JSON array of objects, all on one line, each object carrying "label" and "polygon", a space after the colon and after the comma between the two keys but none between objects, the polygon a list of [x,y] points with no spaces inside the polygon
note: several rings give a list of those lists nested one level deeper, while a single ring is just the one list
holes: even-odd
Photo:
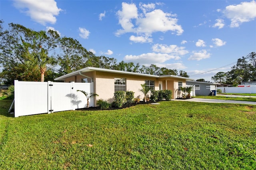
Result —
[{"label": "whole single-storey tan stucco house with white-edged roof", "polygon": [[[146,83],[154,90],[172,90],[172,99],[180,97],[180,87],[186,87],[186,81],[192,80],[187,77],[175,75],[148,75],[128,71],[86,67],[72,73],[60,76],[56,81],[90,83],[94,82],[94,93],[99,96],[94,100],[104,99],[113,101],[115,91],[133,91],[135,98],[143,99],[139,91],[141,84]],[[95,102],[96,103],[96,102]]]}]

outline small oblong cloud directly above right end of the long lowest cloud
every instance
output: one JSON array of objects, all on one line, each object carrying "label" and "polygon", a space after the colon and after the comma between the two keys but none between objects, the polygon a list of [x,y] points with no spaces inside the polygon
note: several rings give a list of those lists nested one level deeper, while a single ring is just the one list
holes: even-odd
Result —
[{"label": "small oblong cloud directly above right end of the long lowest cloud", "polygon": [[159,53],[169,53],[172,55],[185,55],[188,53],[185,47],[178,47],[177,45],[165,45],[165,44],[154,44],[152,46],[153,51]]}]

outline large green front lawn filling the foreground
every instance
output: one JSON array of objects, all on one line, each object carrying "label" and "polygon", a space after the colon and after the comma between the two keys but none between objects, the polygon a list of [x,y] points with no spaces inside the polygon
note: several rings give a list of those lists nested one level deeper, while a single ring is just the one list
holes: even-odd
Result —
[{"label": "large green front lawn filling the foreground", "polygon": [[0,169],[256,169],[253,105],[163,101],[14,118],[0,102]]}]

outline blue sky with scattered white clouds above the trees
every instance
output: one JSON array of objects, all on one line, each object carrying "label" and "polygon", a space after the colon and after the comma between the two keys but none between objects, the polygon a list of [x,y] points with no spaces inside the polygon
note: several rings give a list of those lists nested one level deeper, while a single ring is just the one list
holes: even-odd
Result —
[{"label": "blue sky with scattered white clouds above the trees", "polygon": [[96,56],[212,81],[256,52],[256,1],[1,0],[0,19],[55,30]]}]

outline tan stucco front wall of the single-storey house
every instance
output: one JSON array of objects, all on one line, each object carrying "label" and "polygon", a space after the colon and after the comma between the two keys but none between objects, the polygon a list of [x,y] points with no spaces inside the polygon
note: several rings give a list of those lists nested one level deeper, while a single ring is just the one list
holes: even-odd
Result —
[{"label": "tan stucco front wall of the single-storey house", "polygon": [[[182,81],[182,86],[186,87],[186,80],[173,77],[154,78],[119,73],[107,73],[101,71],[91,71],[82,74],[93,78],[92,81],[94,82],[94,93],[97,93],[99,95],[98,97],[94,97],[95,106],[98,99],[107,100],[110,103],[113,101],[114,78],[126,78],[126,91],[133,91],[134,97],[140,98],[141,100],[143,100],[144,95],[142,92],[139,91],[139,89],[141,89],[141,84],[144,84],[145,80],[155,81],[155,90],[159,90],[159,81],[162,81],[162,89],[165,90],[167,81],[167,89],[172,90],[172,99],[176,99],[182,94],[181,91],[178,91],[178,81]],[[65,82],[81,82],[82,78],[85,77],[82,75],[76,75],[76,77],[73,76],[65,79]],[[150,93],[148,93],[147,96],[149,95]]]}]

